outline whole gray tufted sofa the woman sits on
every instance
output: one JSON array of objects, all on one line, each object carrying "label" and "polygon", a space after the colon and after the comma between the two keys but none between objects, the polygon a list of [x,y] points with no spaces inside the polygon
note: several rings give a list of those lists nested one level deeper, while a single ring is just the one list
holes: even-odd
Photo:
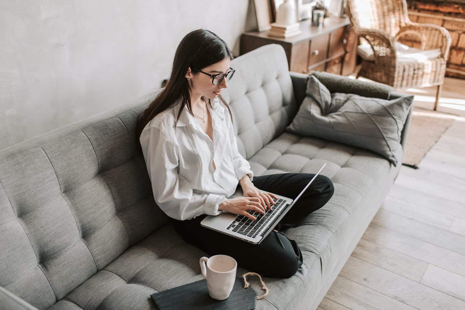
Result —
[{"label": "whole gray tufted sofa the woman sits on", "polygon": [[[314,173],[327,162],[322,173],[333,197],[285,231],[303,252],[302,267],[290,278],[264,277],[269,293],[256,301],[258,310],[315,309],[400,165],[286,132],[308,75],[288,71],[280,45],[259,47],[231,66],[236,75],[222,93],[255,175]],[[331,91],[399,96],[387,86],[314,74]],[[1,309],[154,309],[150,294],[203,279],[199,258],[207,253],[175,232],[154,202],[142,155],[134,155],[136,117],[157,92],[0,151]],[[247,271],[254,270],[238,266],[237,275]],[[248,280],[262,295],[258,278]]]}]

